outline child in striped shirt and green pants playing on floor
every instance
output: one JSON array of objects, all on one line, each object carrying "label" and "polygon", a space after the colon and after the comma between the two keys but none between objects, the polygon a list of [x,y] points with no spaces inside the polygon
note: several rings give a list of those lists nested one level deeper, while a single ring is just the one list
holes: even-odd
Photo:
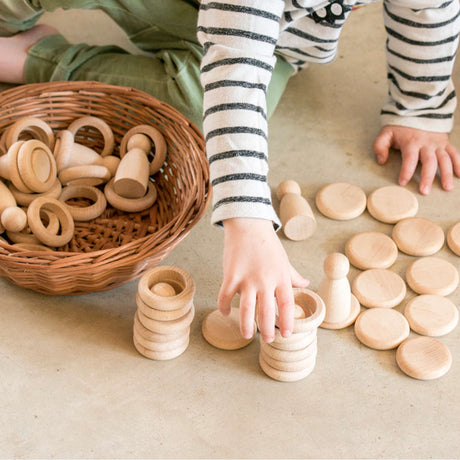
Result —
[{"label": "child in striped shirt and green pants playing on floor", "polygon": [[[267,118],[289,79],[307,62],[335,58],[341,28],[353,6],[374,0],[196,0],[148,2],[7,0],[0,4],[0,80],[101,80],[134,86],[162,99],[201,126],[214,193],[212,221],[224,227],[223,313],[240,294],[240,323],[252,334],[257,306],[262,337],[293,326],[292,286],[308,281],[290,265],[276,236],[279,221],[266,181]],[[46,26],[32,27],[43,8],[100,8],[152,57],[116,47],[70,45]],[[401,150],[399,182],[420,161],[420,192],[439,167],[442,186],[460,175],[449,143],[456,106],[451,73],[458,43],[458,0],[385,0],[389,99],[374,142],[377,161]],[[198,36],[196,22],[198,15]],[[32,27],[32,28],[31,28]],[[198,37],[198,40],[197,40]],[[200,73],[201,65],[201,73]],[[201,83],[200,83],[201,78]],[[201,90],[203,86],[204,92]]]}]

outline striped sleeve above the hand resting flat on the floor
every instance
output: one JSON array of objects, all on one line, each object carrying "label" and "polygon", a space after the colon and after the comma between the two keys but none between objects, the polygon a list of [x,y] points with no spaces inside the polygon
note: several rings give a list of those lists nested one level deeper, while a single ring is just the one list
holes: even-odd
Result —
[{"label": "striped sleeve above the hand resting flat on the floor", "polygon": [[449,132],[459,0],[385,0],[389,99],[382,123]]}]

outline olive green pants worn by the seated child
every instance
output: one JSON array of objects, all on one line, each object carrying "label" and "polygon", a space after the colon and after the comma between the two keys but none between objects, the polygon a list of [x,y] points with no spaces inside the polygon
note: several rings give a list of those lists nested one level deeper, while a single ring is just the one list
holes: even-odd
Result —
[{"label": "olive green pants worn by the seated child", "polygon": [[[203,50],[196,37],[198,7],[198,0],[2,0],[0,36],[32,27],[44,11],[100,9],[151,55],[131,55],[117,46],[74,45],[62,35],[51,35],[29,50],[26,83],[96,80],[131,86],[171,104],[201,128]],[[278,58],[267,92],[268,115],[292,73],[292,67]]]}]

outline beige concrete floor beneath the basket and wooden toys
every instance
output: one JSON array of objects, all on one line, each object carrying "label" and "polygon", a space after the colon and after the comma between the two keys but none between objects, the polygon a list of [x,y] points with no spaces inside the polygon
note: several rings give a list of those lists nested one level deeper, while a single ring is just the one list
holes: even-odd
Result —
[{"label": "beige concrete floor beneath the basket and wooden toys", "polygon": [[[102,14],[45,15],[73,40],[116,41]],[[82,26],[82,24],[84,24]],[[90,24],[88,27],[87,25]],[[94,27],[97,26],[97,27]],[[98,37],[90,34],[98,34]],[[102,34],[101,32],[106,33]],[[326,183],[348,181],[366,193],[395,183],[400,158],[378,166],[371,143],[385,99],[381,5],[352,14],[339,58],[295,76],[270,121],[270,183],[292,178],[313,205]],[[455,76],[460,86],[460,74]],[[460,120],[460,117],[459,117]],[[460,122],[452,140],[460,146]],[[299,167],[302,165],[302,167]],[[460,180],[450,193],[436,182],[419,215],[445,231],[459,219]],[[417,191],[416,181],[408,188]],[[322,217],[295,243],[282,234],[293,265],[316,289],[322,262],[358,231],[380,230],[367,212],[348,222]],[[361,345],[353,328],[320,330],[314,372],[296,383],[268,378],[254,341],[217,350],[200,333],[216,307],[222,236],[209,210],[164,261],[195,279],[191,343],[179,358],[155,362],[132,345],[137,282],[80,297],[47,297],[0,280],[0,456],[2,458],[458,458],[460,456],[460,328],[441,340],[453,355],[443,378],[403,374],[395,352]],[[460,268],[444,247],[439,256]],[[413,260],[400,254],[400,275]],[[352,269],[349,279],[358,273]],[[414,296],[408,290],[403,311]],[[449,296],[457,305],[460,291]]]}]

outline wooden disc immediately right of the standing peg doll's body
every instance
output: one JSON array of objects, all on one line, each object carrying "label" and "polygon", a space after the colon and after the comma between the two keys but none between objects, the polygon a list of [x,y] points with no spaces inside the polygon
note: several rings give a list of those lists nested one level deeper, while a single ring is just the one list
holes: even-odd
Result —
[{"label": "wooden disc immediately right of the standing peg doll's body", "polygon": [[403,301],[406,283],[397,273],[373,268],[360,273],[353,280],[351,290],[365,307],[393,308]]}]

